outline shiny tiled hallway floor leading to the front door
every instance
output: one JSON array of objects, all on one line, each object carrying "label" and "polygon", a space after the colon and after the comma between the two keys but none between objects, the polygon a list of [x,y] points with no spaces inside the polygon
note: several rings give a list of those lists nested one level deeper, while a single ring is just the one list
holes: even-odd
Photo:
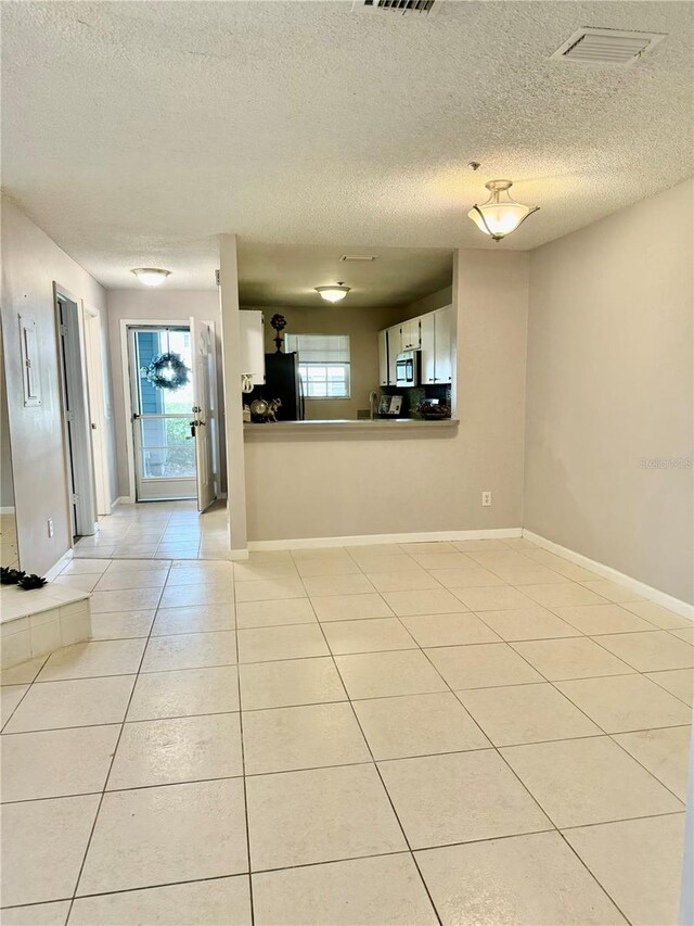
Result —
[{"label": "shiny tiled hallway floor leading to the front door", "polygon": [[75,545],[79,558],[228,559],[227,503],[198,513],[195,500],[123,504]]}]

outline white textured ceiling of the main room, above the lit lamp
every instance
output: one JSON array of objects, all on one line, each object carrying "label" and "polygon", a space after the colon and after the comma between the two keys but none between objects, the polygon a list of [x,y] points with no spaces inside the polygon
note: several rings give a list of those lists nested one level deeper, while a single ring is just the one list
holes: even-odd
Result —
[{"label": "white textured ceiling of the main room, above the lit lamp", "polygon": [[[528,249],[691,174],[694,4],[439,4],[5,0],[4,188],[106,286],[189,289],[223,231]],[[580,26],[668,36],[631,68],[550,61]],[[498,177],[541,206],[501,245],[466,217]]]}]

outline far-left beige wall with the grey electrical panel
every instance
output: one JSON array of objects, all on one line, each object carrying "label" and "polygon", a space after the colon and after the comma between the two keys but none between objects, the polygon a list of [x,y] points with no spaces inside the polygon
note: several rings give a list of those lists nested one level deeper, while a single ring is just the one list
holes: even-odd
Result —
[{"label": "far-left beige wall with the grey electrical panel", "polygon": [[[59,390],[53,282],[105,309],[103,288],[25,216],[2,200],[2,329],[22,569],[46,573],[72,546]],[[37,325],[41,405],[24,407],[18,315]],[[54,535],[48,536],[48,519]]]}]

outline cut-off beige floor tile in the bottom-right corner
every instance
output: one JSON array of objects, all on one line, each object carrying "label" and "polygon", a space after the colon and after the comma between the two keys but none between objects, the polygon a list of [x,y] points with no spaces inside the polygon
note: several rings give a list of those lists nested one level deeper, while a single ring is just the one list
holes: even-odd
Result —
[{"label": "cut-off beige floor tile in the bottom-right corner", "polygon": [[634,926],[680,922],[683,813],[567,829],[564,836]]}]

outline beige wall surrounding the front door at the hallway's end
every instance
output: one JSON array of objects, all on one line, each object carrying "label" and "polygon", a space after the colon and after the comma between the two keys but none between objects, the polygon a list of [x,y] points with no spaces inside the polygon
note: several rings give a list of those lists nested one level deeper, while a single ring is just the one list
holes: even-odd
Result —
[{"label": "beige wall surrounding the front door at the hallway's end", "polygon": [[[166,286],[166,284],[165,284]],[[111,367],[113,370],[114,417],[117,446],[118,495],[129,495],[128,455],[126,428],[130,427],[131,409],[126,406],[123,388],[123,352],[120,341],[121,320],[136,321],[180,321],[188,324],[191,317],[198,321],[214,321],[217,337],[217,373],[219,380],[218,407],[220,415],[220,475],[221,491],[227,491],[227,465],[224,454],[223,392],[221,385],[221,341],[219,293],[211,291],[187,292],[183,290],[110,290],[108,341]]]}]

